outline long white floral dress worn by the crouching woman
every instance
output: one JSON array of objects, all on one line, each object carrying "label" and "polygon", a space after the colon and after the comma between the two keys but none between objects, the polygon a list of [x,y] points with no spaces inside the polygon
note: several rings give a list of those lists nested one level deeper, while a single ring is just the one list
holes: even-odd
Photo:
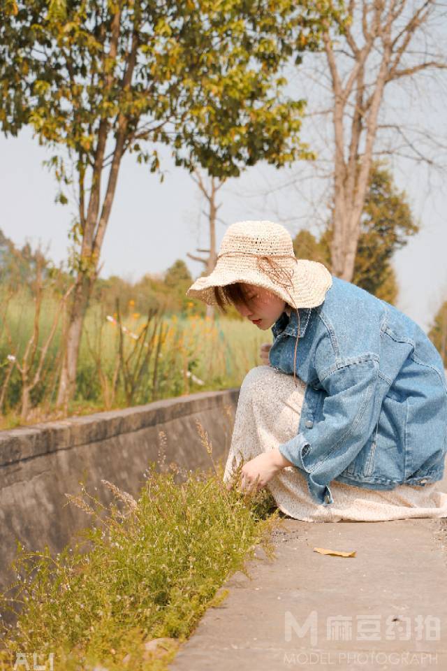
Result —
[{"label": "long white floral dress worn by the crouching woman", "polygon": [[[224,482],[232,464],[275,449],[298,433],[306,384],[272,366],[252,368],[240,388]],[[427,438],[430,440],[430,438]],[[234,460],[234,461],[233,461]],[[305,475],[288,466],[267,484],[279,510],[309,522],[383,521],[408,517],[447,517],[447,493],[441,481],[423,487],[402,484],[392,490],[364,489],[332,480],[333,503],[319,505]]]}]

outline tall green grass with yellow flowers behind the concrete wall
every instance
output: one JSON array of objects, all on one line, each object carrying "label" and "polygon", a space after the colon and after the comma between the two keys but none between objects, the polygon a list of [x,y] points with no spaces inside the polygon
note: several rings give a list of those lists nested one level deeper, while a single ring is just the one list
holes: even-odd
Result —
[{"label": "tall green grass with yellow flowers behind the concrete wall", "polygon": [[[50,331],[57,310],[59,303],[45,296],[39,347]],[[146,333],[147,317],[131,310],[126,312],[128,316],[117,324],[108,321],[108,317],[117,320],[118,315],[107,315],[100,303],[94,303],[87,311],[76,394],[67,409],[68,415],[140,405],[194,391],[238,387],[248,370],[260,363],[261,342],[271,339],[270,333],[263,333],[248,322],[226,319],[219,313],[211,320],[192,312],[182,316],[157,315],[162,322],[161,329],[152,338],[152,322]],[[0,390],[4,387],[5,393],[0,428],[61,417],[55,401],[64,348],[62,322],[48,349],[41,381],[31,392],[31,410],[24,421],[20,417],[22,380],[11,355],[20,361],[33,332],[34,304],[27,289],[17,292],[2,319],[8,324],[12,347],[6,330],[1,329]],[[147,347],[152,347],[146,362],[142,355],[138,359],[134,352],[140,344],[142,354],[147,352]]]}]

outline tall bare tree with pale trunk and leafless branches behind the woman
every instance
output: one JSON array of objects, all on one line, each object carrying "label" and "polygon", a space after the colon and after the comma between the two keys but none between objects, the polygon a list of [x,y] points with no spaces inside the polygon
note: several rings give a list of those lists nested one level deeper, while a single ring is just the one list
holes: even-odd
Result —
[{"label": "tall bare tree with pale trunk and leafless branches behind the woman", "polygon": [[[422,71],[446,68],[427,44],[427,29],[438,7],[434,0],[351,0],[351,25],[344,28],[341,47],[337,49],[330,31],[323,34],[335,140],[332,272],[345,280],[353,277],[386,87]],[[394,130],[405,139],[404,124]],[[409,138],[406,143],[411,146]],[[411,148],[417,155],[417,147]]]}]

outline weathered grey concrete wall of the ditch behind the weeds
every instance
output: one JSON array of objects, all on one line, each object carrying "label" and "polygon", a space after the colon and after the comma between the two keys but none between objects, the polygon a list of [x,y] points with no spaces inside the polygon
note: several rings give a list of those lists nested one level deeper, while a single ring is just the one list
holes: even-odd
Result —
[{"label": "weathered grey concrete wall of the ditch behind the weeds", "polygon": [[159,431],[166,433],[166,463],[188,470],[212,467],[196,419],[212,442],[214,461],[225,459],[238,396],[239,389],[202,392],[2,431],[0,590],[13,580],[8,566],[16,539],[29,549],[48,544],[57,552],[88,526],[85,512],[70,503],[64,507],[65,493],[80,493],[80,480],[103,503],[112,495],[101,478],[137,496],[149,461],[159,458]]}]

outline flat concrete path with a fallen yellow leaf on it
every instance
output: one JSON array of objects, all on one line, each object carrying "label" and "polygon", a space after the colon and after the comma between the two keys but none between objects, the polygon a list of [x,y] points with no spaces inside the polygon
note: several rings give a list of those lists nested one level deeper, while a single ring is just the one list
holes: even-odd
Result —
[{"label": "flat concrete path with a fallen yellow leaf on it", "polygon": [[[447,519],[281,519],[172,671],[447,669]],[[356,557],[325,556],[325,547]]]}]

